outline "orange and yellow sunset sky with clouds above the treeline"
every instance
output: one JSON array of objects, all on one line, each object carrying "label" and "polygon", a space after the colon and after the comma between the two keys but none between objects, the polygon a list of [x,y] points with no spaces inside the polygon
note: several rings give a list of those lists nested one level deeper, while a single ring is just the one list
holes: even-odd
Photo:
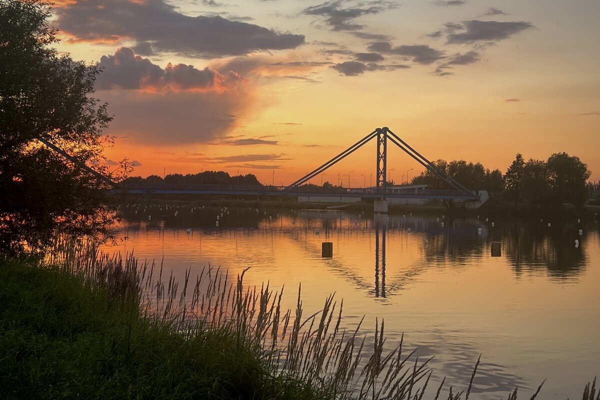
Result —
[{"label": "orange and yellow sunset sky with clouds above the treeline", "polygon": [[[55,0],[102,72],[107,163],[287,185],[377,127],[503,173],[576,155],[600,181],[598,0]],[[393,146],[393,145],[392,145]],[[422,167],[388,148],[388,179]],[[368,143],[311,183],[372,185]]]}]

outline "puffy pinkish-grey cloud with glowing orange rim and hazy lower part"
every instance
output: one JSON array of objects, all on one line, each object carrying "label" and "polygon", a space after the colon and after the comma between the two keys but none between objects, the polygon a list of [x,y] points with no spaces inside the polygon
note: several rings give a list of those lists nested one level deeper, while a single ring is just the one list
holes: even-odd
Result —
[{"label": "puffy pinkish-grey cloud with glowing orange rim and hazy lower part", "polygon": [[166,68],[121,48],[103,56],[98,98],[115,119],[111,133],[133,142],[202,143],[226,136],[253,110],[254,88],[239,74],[191,65]]}]

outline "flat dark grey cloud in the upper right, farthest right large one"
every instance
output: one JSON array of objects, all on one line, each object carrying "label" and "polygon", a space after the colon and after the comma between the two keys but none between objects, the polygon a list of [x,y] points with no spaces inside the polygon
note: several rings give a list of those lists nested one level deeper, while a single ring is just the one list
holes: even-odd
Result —
[{"label": "flat dark grey cloud in the upper right, farthest right large one", "polygon": [[533,28],[529,22],[498,22],[470,20],[464,22],[466,32],[449,33],[448,44],[473,43],[476,41],[499,41],[526,29]]}]

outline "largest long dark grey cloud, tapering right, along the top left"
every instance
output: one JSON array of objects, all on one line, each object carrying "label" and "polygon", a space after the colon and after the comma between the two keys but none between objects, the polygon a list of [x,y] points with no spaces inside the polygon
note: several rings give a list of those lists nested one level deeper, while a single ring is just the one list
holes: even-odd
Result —
[{"label": "largest long dark grey cloud, tapering right, along the top left", "polygon": [[56,24],[71,40],[151,43],[155,52],[200,57],[293,49],[304,35],[275,32],[220,16],[191,17],[164,0],[86,0],[56,6]]}]

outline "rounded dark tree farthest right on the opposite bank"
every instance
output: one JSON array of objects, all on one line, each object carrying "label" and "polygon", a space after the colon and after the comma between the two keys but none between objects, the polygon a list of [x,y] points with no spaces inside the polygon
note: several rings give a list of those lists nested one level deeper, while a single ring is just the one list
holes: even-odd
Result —
[{"label": "rounded dark tree farthest right on the opposite bank", "polygon": [[561,203],[583,206],[587,199],[586,181],[590,177],[587,165],[565,152],[551,155],[546,165],[554,197]]}]

